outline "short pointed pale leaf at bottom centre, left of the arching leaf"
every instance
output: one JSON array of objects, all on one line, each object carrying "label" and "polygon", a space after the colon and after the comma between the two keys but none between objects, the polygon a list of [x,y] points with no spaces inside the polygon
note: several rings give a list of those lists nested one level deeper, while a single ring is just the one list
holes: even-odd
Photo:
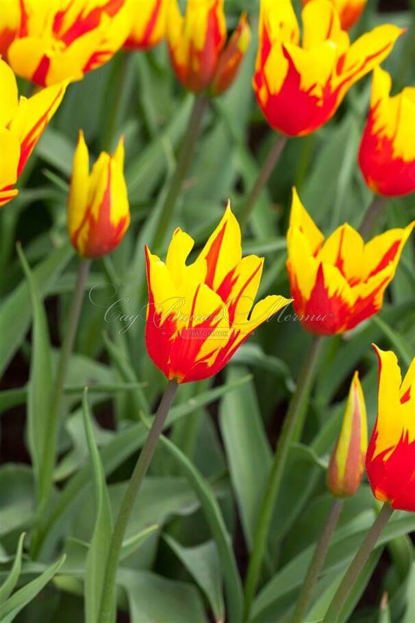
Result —
[{"label": "short pointed pale leaf at bottom centre, left of the arching leaf", "polygon": [[225,620],[225,604],[222,596],[221,565],[214,541],[185,548],[175,539],[164,535],[164,540],[181,560],[205,593],[216,621]]}]

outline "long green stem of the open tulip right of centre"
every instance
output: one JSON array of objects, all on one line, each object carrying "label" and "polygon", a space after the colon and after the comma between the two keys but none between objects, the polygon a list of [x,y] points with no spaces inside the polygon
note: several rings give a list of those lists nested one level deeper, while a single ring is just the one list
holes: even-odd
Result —
[{"label": "long green stem of the open tulip right of centre", "polygon": [[310,345],[310,350],[305,356],[305,361],[297,382],[297,389],[292,395],[281,434],[279,435],[273,465],[271,466],[271,473],[268,478],[266,492],[264,500],[262,500],[260,516],[253,538],[253,548],[245,583],[245,620],[249,619],[249,614],[251,612],[251,604],[260,577],[262,560],[264,559],[266,543],[268,541],[268,532],[275,509],[275,502],[278,498],[290,447],[292,442],[295,441],[295,439],[299,439],[301,435],[299,421],[303,419],[303,413],[305,413],[322,344],[322,337],[314,337]]}]

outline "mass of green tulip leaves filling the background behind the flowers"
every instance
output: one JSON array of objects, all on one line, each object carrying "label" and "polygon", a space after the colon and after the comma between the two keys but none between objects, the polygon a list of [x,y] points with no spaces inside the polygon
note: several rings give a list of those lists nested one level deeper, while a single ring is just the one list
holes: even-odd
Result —
[{"label": "mass of green tulip leaves filling the background behind the flowers", "polygon": [[[248,10],[255,32],[258,3],[251,0],[227,1],[229,28],[242,9]],[[401,90],[414,82],[414,15],[379,14],[375,3],[369,3],[353,35],[384,21],[410,27],[383,64],[392,73],[394,89]],[[199,244],[220,219],[228,197],[238,211],[273,141],[250,86],[256,45],[254,36],[238,80],[212,101],[177,204],[172,228],[180,225]],[[25,88],[22,81],[21,90]],[[245,253],[266,258],[260,295],[289,293],[285,234],[293,185],[325,233],[344,221],[360,225],[372,199],[356,162],[369,93],[370,80],[362,80],[334,121],[310,137],[288,142],[244,240]],[[9,388],[0,392],[3,443],[10,443],[10,430],[17,430],[32,459],[31,466],[16,452],[0,467],[0,574],[6,581],[3,597],[11,595],[2,621],[84,620],[83,584],[93,592],[99,572],[96,557],[108,544],[110,508],[118,508],[147,435],[139,413],[153,411],[165,384],[147,356],[143,321],[137,319],[126,330],[131,319],[115,319],[115,310],[105,318],[105,309],[122,299],[118,310],[136,315],[145,304],[143,243],[157,223],[160,197],[191,106],[192,95],[177,84],[164,44],[149,53],[118,53],[68,88],[29,160],[18,197],[1,210],[1,370],[3,387]],[[95,304],[86,297],[66,380],[68,415],[62,422],[55,491],[50,508],[38,517],[34,491],[47,426],[45,404],[77,269],[67,240],[65,206],[80,127],[95,155],[114,148],[119,134],[125,134],[132,219],[111,258],[92,265],[88,287],[96,286],[90,295]],[[404,226],[414,218],[413,195],[392,199],[379,229]],[[16,241],[27,258],[25,271]],[[152,250],[163,254],[165,249]],[[115,284],[116,294],[109,284]],[[414,321],[412,241],[379,317],[350,335],[325,341],[303,443],[290,450],[251,623],[287,620],[331,503],[325,463],[338,435],[353,371],[360,370],[371,428],[377,365],[370,343],[392,347],[405,368],[415,352]],[[309,342],[298,323],[274,319],[255,332],[218,378],[179,388],[168,419],[171,443],[163,441],[156,452],[123,545],[118,607],[129,611],[132,622],[199,623],[212,620],[211,615],[223,620],[224,583],[227,598],[240,598],[236,565],[243,574],[273,445]],[[90,386],[90,416],[81,408],[85,384]],[[25,409],[23,433],[10,420]],[[345,504],[310,622],[323,617],[374,517],[375,502],[364,483]],[[414,529],[414,515],[394,514],[342,621],[414,623],[414,548],[408,536]],[[34,530],[42,537],[36,560],[30,555],[29,537],[24,548],[21,537]],[[282,545],[275,547],[277,542]],[[377,566],[382,552],[387,554]],[[375,581],[356,609],[373,570]],[[380,609],[383,591],[389,601]],[[94,604],[88,609],[92,612]]]}]

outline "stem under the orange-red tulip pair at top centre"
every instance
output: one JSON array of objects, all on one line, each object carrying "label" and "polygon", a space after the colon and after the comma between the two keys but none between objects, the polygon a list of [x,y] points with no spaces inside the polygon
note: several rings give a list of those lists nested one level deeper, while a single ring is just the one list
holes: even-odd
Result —
[{"label": "stem under the orange-red tulip pair at top centre", "polygon": [[160,219],[158,221],[157,229],[155,230],[153,247],[154,249],[160,249],[163,246],[164,239],[173,217],[176,201],[179,197],[181,186],[183,186],[186,173],[192,160],[194,146],[196,145],[197,137],[199,136],[199,130],[203,119],[203,114],[207,108],[208,99],[205,95],[197,95],[194,98],[192,113],[188,123],[188,129],[184,141],[181,144],[179,157],[177,159],[176,169],[171,178],[170,185],[166,197],[160,208]]}]

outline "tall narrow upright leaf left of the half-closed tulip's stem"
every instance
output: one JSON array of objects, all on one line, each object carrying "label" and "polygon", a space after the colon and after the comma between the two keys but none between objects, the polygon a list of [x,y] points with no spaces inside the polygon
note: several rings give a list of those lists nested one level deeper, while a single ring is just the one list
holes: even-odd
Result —
[{"label": "tall narrow upright leaf left of the half-closed tulip's stem", "polygon": [[38,284],[20,245],[17,245],[17,252],[25,271],[32,302],[33,331],[29,393],[27,395],[27,435],[38,487],[38,499],[40,500],[51,482],[51,474],[47,473],[49,468],[45,464],[48,437],[51,438],[49,443],[55,441],[54,437],[50,435],[52,423],[49,422],[53,388],[51,345],[49,343],[47,317],[40,299]]}]

